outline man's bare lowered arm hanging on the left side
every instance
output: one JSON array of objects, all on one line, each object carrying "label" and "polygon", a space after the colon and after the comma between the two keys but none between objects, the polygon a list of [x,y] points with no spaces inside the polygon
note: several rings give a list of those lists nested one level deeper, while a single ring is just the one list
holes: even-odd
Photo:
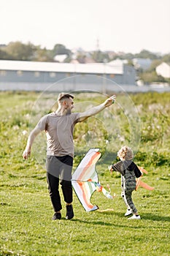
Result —
[{"label": "man's bare lowered arm hanging on the left side", "polygon": [[34,139],[37,135],[39,135],[40,132],[42,132],[42,130],[39,129],[39,127],[35,127],[28,136],[26,149],[23,151],[23,159],[28,159],[29,155],[31,154],[31,146],[34,143]]}]

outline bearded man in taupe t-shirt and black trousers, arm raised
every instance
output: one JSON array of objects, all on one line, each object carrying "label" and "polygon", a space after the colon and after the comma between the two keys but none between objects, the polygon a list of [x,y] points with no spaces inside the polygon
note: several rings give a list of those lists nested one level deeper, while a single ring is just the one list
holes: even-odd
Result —
[{"label": "bearded man in taupe t-shirt and black trousers, arm raised", "polygon": [[66,219],[72,219],[74,217],[71,181],[74,157],[74,125],[109,107],[115,102],[115,98],[115,95],[113,95],[101,105],[83,113],[72,113],[74,97],[71,94],[61,93],[58,95],[58,109],[53,113],[43,116],[28,136],[26,149],[23,151],[24,159],[28,159],[28,156],[31,154],[31,146],[36,136],[42,131],[46,132],[47,184],[54,209],[54,220],[61,219],[62,206],[58,190],[59,179],[61,179],[61,189],[64,201],[66,202]]}]

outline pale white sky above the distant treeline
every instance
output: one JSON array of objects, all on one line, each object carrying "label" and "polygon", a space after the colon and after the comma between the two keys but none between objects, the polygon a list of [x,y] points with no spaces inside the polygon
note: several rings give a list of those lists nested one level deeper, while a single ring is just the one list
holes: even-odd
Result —
[{"label": "pale white sky above the distant treeline", "polygon": [[0,0],[0,45],[170,53],[169,0]]}]

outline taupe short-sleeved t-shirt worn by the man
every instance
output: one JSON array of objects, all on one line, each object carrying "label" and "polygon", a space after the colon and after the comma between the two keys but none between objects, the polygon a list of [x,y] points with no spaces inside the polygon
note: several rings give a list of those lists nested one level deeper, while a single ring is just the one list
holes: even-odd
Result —
[{"label": "taupe short-sleeved t-shirt worn by the man", "polygon": [[45,130],[47,137],[47,155],[74,157],[73,131],[80,113],[58,116],[55,113],[43,116],[36,127]]}]

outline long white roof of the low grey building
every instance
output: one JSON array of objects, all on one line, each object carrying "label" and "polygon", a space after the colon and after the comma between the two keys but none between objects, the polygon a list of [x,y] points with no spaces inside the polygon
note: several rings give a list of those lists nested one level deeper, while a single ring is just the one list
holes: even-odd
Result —
[{"label": "long white roof of the low grey building", "polygon": [[123,74],[123,62],[109,63],[56,63],[40,61],[6,61],[0,60],[0,70],[22,70],[35,72],[77,72],[89,74]]}]

